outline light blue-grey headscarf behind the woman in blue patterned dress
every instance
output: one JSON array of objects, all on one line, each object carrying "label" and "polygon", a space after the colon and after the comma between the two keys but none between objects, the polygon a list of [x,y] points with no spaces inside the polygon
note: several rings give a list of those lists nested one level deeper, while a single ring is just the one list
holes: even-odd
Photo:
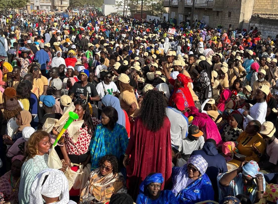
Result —
[{"label": "light blue-grey headscarf behind the woman in blue patterned dress", "polygon": [[121,109],[120,101],[117,97],[112,96],[110,94],[103,96],[101,102],[105,106],[112,106],[118,112],[118,120],[117,123],[125,127],[125,113]]}]

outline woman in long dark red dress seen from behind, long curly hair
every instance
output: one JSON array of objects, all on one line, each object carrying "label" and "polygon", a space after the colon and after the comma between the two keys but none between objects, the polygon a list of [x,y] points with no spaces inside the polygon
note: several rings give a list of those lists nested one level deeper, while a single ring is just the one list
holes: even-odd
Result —
[{"label": "woman in long dark red dress seen from behind, long curly hair", "polygon": [[[172,173],[170,121],[161,91],[145,94],[141,115],[136,118],[123,160],[129,194],[136,199],[142,179],[150,172],[162,173],[165,185]],[[131,155],[131,157],[129,157]],[[130,158],[130,159],[129,159]],[[164,184],[162,184],[163,189]]]}]

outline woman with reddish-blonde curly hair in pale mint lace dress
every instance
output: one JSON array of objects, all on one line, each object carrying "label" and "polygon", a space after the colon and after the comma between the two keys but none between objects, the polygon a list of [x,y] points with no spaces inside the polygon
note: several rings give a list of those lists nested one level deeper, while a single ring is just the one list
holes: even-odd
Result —
[{"label": "woman with reddish-blonde curly hair in pale mint lace dress", "polygon": [[42,170],[47,169],[50,137],[45,131],[34,132],[27,142],[26,160],[21,168],[19,185],[19,203],[29,203],[31,184],[35,176]]}]

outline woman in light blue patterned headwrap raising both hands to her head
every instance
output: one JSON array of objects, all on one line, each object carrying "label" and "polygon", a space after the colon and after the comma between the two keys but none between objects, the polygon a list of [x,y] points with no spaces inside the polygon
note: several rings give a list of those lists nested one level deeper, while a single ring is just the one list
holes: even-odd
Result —
[{"label": "woman in light blue patterned headwrap raising both hands to her head", "polygon": [[219,200],[229,195],[244,194],[249,196],[252,203],[257,203],[265,191],[264,174],[259,170],[257,162],[243,161],[234,171],[219,174],[217,176]]}]

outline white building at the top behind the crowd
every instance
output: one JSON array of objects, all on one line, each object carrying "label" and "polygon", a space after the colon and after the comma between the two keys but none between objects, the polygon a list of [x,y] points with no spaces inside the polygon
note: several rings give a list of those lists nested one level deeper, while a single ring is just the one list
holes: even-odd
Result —
[{"label": "white building at the top behind the crowd", "polygon": [[[128,0],[126,0],[128,1]],[[104,0],[104,4],[102,4],[102,13],[104,13],[105,16],[109,14],[123,14],[123,5],[124,5],[124,0],[117,0],[117,2],[122,2],[122,8],[118,8],[116,6],[116,0]],[[125,14],[129,15],[130,10],[125,9]]]}]

